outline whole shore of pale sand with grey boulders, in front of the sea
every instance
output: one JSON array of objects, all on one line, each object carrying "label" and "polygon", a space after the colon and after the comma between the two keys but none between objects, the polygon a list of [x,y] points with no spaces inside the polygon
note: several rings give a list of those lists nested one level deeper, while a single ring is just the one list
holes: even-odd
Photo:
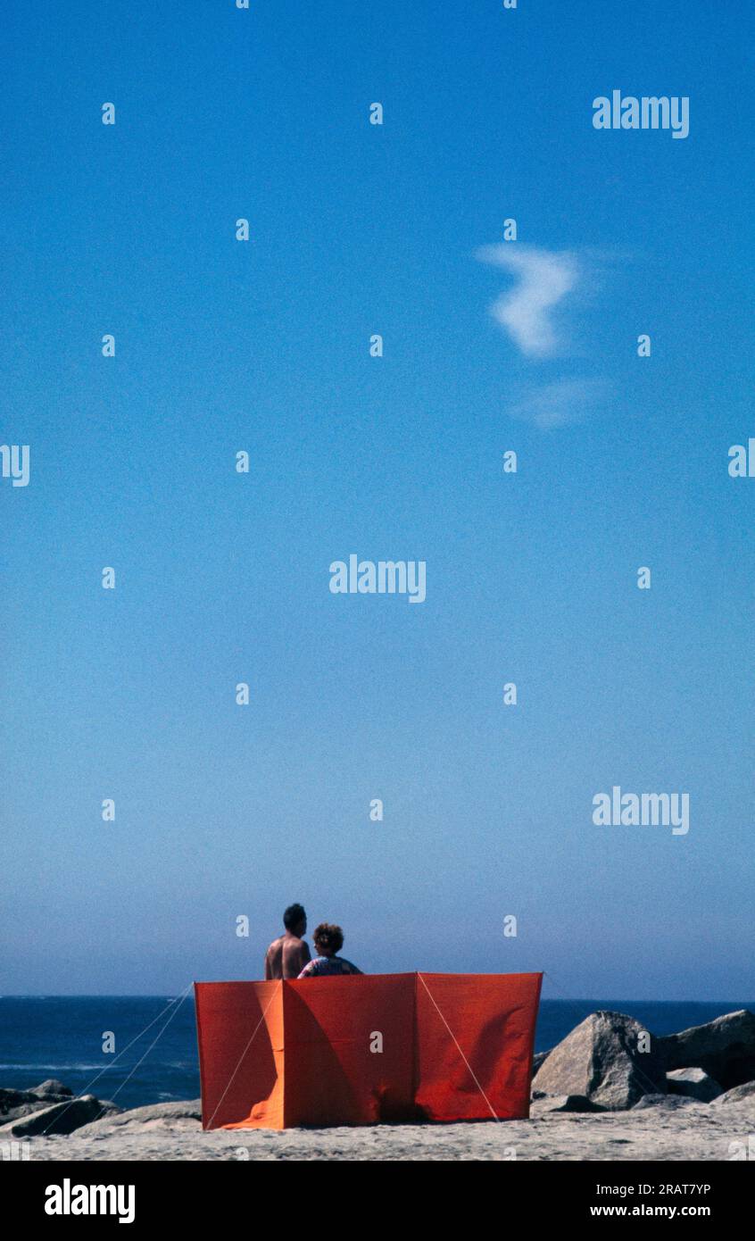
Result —
[{"label": "whole shore of pale sand with grey boulders, in front of the sea", "polygon": [[[4,1158],[76,1162],[751,1158],[755,1015],[743,1009],[656,1039],[652,1054],[636,1050],[635,1026],[599,1010],[541,1052],[528,1119],[205,1132],[201,1100],[119,1111],[51,1078],[0,1091],[0,1143],[14,1143]],[[682,1067],[689,1061],[697,1067]]]}]

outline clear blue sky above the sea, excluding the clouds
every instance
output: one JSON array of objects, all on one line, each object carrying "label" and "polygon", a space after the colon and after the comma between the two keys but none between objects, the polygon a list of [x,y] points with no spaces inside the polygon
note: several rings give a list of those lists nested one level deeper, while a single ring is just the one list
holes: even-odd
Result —
[{"label": "clear blue sky above the sea, excluding the clouds", "polygon": [[[4,992],[259,977],[300,900],[371,972],[751,995],[745,21],[11,0]],[[689,137],[595,130],[614,88]],[[510,217],[576,272],[544,356],[491,314]],[[426,601],[331,594],[351,552]],[[689,833],[595,827],[614,784]]]}]

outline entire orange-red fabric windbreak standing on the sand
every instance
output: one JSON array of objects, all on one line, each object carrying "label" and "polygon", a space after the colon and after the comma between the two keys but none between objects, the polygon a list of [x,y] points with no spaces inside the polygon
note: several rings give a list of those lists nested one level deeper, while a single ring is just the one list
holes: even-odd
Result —
[{"label": "entire orange-red fabric windbreak standing on the sand", "polygon": [[541,982],[371,974],[197,983],[203,1126],[526,1117]]}]

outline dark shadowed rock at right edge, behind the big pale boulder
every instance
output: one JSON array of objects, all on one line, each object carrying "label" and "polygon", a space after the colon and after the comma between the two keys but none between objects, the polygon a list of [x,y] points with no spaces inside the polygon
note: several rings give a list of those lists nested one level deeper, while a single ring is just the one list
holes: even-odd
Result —
[{"label": "dark shadowed rock at right edge, behind the big pale boulder", "polygon": [[755,1078],[755,1014],[748,1009],[726,1013],[657,1039],[656,1050],[664,1056],[667,1071],[704,1069],[722,1090],[731,1090]]}]

